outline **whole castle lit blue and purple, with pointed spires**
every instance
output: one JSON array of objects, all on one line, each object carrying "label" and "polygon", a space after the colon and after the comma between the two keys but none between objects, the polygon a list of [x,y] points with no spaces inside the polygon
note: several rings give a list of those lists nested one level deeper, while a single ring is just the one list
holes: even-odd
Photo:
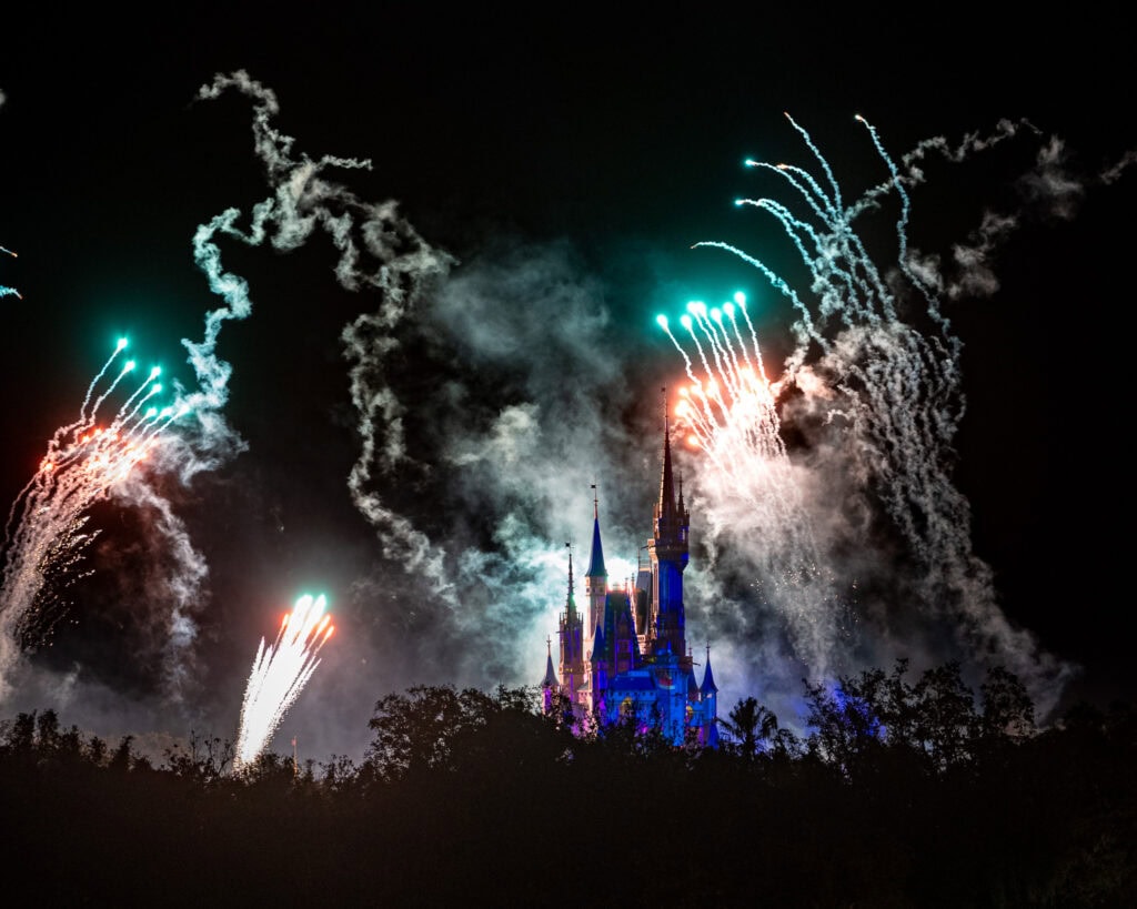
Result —
[{"label": "whole castle lit blue and purple, with pointed spires", "polygon": [[591,717],[598,726],[636,717],[637,727],[653,725],[674,744],[717,744],[717,689],[707,648],[703,684],[687,649],[683,569],[688,559],[690,516],[672,478],[671,442],[663,439],[663,476],[655,506],[649,565],[639,565],[634,583],[608,586],[600,544],[599,502],[592,502],[592,551],[584,575],[586,612],[573,597],[572,552],[568,598],[561,615],[559,679],[549,642],[541,686],[548,708],[554,693],[572,706],[578,724]]}]

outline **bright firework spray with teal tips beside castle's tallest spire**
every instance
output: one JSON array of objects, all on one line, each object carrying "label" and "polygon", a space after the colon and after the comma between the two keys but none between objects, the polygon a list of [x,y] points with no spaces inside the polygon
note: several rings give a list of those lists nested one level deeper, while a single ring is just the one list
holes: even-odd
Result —
[{"label": "bright firework spray with teal tips beside castle's tallest spire", "polygon": [[[659,316],[657,322],[683,357],[691,380],[689,389],[679,390],[680,426],[713,467],[700,472],[698,481],[699,494],[719,506],[706,510],[708,532],[716,536],[729,527],[763,541],[755,566],[761,595],[783,617],[797,657],[823,677],[835,669],[848,617],[823,574],[746,298],[738,293],[721,308],[708,310],[691,302],[687,309],[680,324],[697,351],[702,378],[667,318]],[[731,507],[724,509],[728,502]]]}]

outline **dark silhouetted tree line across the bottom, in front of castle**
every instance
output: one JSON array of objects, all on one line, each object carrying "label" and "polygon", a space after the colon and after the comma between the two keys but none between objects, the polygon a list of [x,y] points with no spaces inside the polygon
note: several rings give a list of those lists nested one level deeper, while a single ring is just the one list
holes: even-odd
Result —
[{"label": "dark silhouetted tree line across the bottom, in front of castle", "polygon": [[899,660],[755,698],[720,744],[597,727],[537,687],[376,702],[362,760],[160,760],[53,710],[0,723],[6,879],[43,904],[1134,906],[1137,711],[1046,728],[1020,681]]}]

